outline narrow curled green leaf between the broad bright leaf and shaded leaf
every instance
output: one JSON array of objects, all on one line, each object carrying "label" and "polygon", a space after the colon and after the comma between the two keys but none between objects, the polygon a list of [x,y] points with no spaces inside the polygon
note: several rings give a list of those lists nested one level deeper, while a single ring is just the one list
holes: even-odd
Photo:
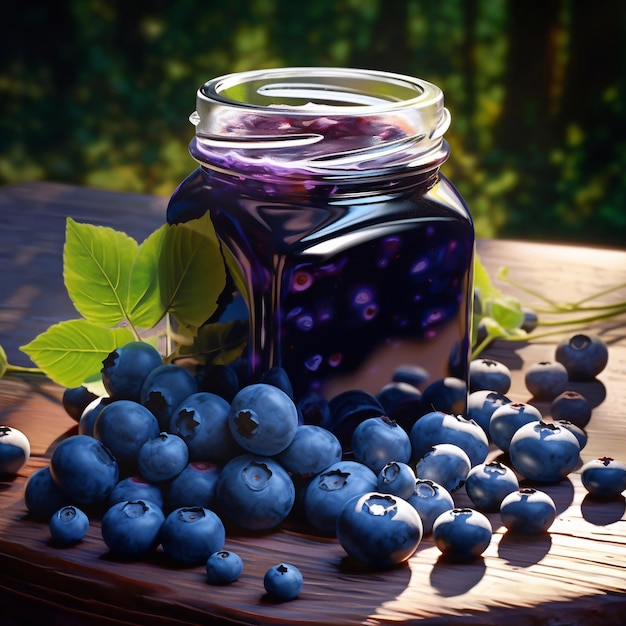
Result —
[{"label": "narrow curled green leaf between the broad bright leaf and shaded leaf", "polygon": [[159,280],[159,263],[167,224],[155,230],[140,246],[130,273],[129,321],[137,328],[153,328],[166,313]]}]

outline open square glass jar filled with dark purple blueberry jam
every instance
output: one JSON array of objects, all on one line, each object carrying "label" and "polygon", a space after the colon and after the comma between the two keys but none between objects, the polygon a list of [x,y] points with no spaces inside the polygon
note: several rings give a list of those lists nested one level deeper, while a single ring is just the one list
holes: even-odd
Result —
[{"label": "open square glass jar filled with dark purple blueberry jam", "polygon": [[204,84],[190,121],[200,166],[167,219],[210,212],[235,287],[225,315],[246,304],[250,381],[281,366],[296,396],[376,394],[408,365],[467,383],[474,230],[439,171],[450,116],[438,87],[357,69],[243,72]]}]

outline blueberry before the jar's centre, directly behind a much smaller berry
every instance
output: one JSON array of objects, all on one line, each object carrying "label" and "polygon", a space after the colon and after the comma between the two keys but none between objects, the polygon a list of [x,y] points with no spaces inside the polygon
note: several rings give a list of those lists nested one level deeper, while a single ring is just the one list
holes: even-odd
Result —
[{"label": "blueberry before the jar's centre, directly behind a much smaller berry", "polygon": [[378,474],[391,461],[410,461],[411,440],[404,428],[389,417],[369,417],[354,429],[352,452],[356,461]]}]

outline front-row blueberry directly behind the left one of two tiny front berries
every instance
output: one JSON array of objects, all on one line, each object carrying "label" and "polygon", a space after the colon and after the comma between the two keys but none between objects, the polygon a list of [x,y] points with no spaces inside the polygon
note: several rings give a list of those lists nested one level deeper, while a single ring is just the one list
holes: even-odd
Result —
[{"label": "front-row blueberry directly behind the left one of two tiny front berries", "polygon": [[181,507],[165,518],[160,540],[170,558],[183,565],[200,565],[224,547],[226,531],[222,520],[210,509]]}]

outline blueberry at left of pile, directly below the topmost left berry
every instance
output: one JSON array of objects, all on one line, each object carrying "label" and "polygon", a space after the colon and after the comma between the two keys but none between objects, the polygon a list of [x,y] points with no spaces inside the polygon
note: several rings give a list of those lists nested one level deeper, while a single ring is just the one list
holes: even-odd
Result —
[{"label": "blueberry at left of pile, directly below the topmost left berry", "polygon": [[93,434],[124,469],[134,473],[141,446],[159,434],[159,422],[144,406],[132,400],[116,400],[98,415]]}]

